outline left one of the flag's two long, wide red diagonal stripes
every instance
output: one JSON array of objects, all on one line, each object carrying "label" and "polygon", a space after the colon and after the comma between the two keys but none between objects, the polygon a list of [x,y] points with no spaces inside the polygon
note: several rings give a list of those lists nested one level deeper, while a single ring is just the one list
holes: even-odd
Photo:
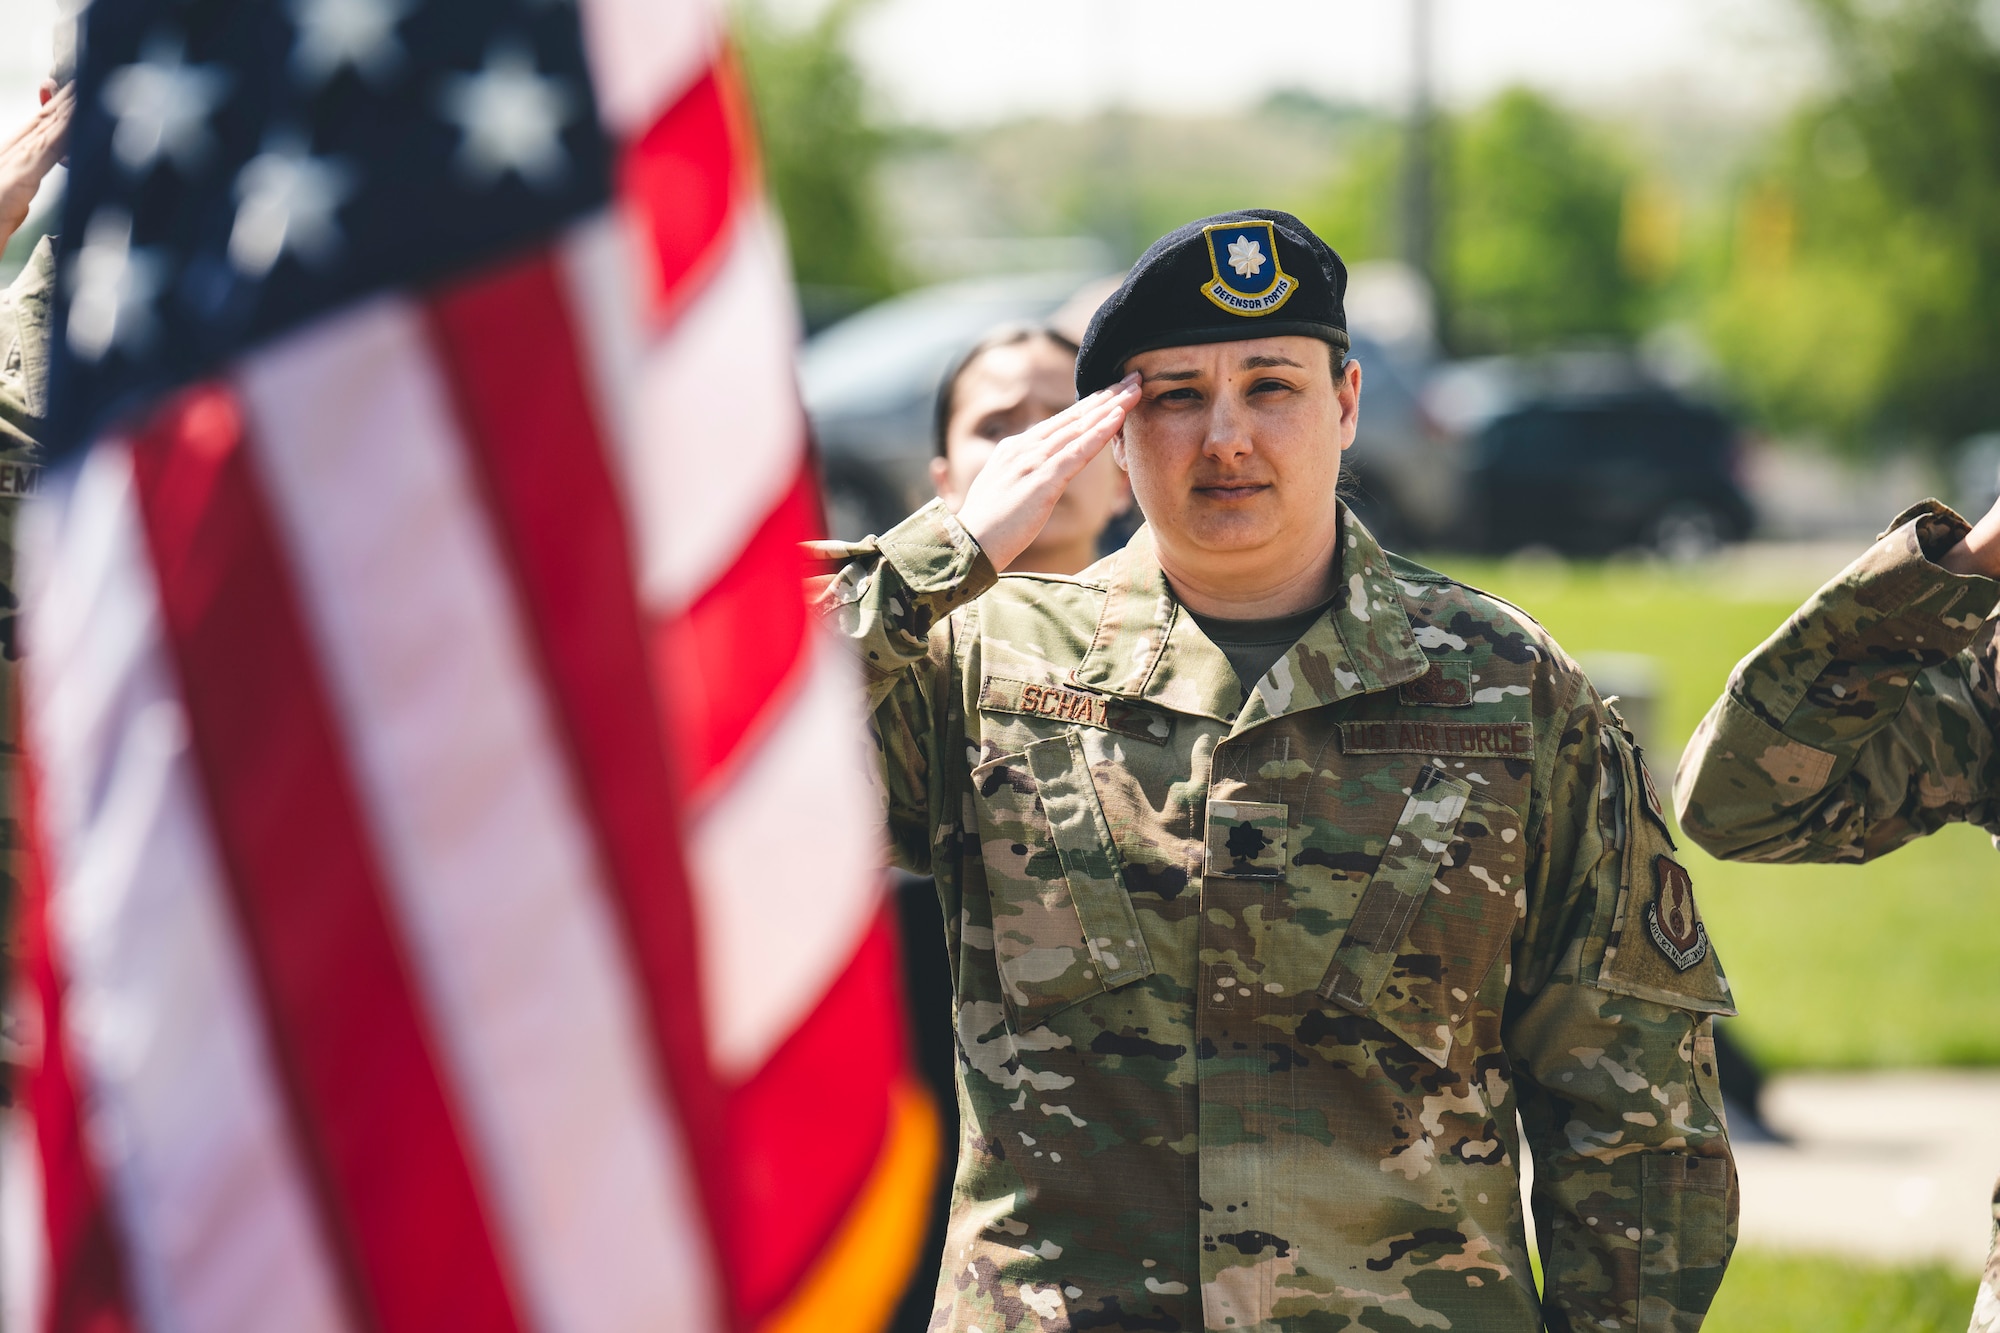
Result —
[{"label": "left one of the flag's two long, wide red diagonal stripes", "polygon": [[512,1333],[234,396],[206,384],[172,398],[134,464],[230,897],[352,1305],[384,1333]]}]

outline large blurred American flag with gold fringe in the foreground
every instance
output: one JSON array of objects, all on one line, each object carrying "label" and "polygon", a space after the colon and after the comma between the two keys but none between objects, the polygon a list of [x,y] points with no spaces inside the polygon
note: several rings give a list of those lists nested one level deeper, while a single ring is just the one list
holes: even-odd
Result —
[{"label": "large blurred American flag with gold fringe in the foreground", "polygon": [[924,1223],[702,0],[96,0],[8,1333],[880,1327]]}]

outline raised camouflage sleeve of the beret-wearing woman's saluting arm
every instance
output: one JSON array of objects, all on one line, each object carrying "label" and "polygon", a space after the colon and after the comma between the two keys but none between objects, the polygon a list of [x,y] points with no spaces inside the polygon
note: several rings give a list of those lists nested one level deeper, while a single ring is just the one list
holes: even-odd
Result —
[{"label": "raised camouflage sleeve of the beret-wearing woman's saluting arm", "polygon": [[808,546],[844,560],[818,580],[814,606],[862,662],[896,865],[924,875],[944,781],[932,759],[950,699],[950,620],[998,572],[940,500],[882,536]]}]

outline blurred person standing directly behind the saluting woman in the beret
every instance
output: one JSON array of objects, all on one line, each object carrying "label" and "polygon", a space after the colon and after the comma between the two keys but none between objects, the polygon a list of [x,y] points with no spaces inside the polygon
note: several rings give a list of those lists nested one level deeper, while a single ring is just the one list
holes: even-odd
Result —
[{"label": "blurred person standing directly behind the saluting woman in the beret", "polygon": [[[1082,292],[1080,296],[1088,296]],[[1108,296],[1098,290],[1096,300]],[[1072,302],[1076,304],[1076,302]],[[1084,322],[1090,318],[1084,310]],[[1006,324],[966,350],[938,384],[932,414],[930,480],[938,498],[956,510],[972,478],[992,458],[1000,440],[1048,420],[1076,402],[1076,342],[1054,328]],[[1014,568],[1044,574],[1080,574],[1098,558],[1098,542],[1112,520],[1132,504],[1132,490],[1112,456],[1098,458],[1070,480],[1038,538]],[[916,1065],[938,1099],[944,1161],[958,1157],[958,1057],[952,1039],[952,973],[938,915],[938,889],[928,875],[896,875],[902,919],[904,987],[910,993],[910,1027]],[[952,1175],[938,1173],[932,1225],[924,1259],[910,1277],[910,1291],[892,1333],[922,1333],[938,1283],[938,1255],[952,1203]]]}]

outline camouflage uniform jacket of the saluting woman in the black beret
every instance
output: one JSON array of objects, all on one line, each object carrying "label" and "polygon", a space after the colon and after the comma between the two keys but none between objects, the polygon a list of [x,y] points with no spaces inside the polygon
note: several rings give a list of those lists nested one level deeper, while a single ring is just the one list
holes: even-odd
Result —
[{"label": "camouflage uniform jacket of the saluting woman in the black beret", "polygon": [[1532,620],[1344,522],[1248,701],[1146,530],[996,578],[932,504],[826,584],[958,991],[932,1329],[1702,1323],[1730,1001],[1640,761]]}]

